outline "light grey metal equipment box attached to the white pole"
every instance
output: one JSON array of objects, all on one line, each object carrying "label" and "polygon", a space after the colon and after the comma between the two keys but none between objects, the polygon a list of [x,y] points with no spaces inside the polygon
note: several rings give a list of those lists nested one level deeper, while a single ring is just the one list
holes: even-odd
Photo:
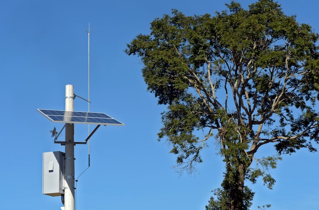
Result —
[{"label": "light grey metal equipment box attached to the white pole", "polygon": [[64,194],[64,152],[43,152],[42,194]]}]

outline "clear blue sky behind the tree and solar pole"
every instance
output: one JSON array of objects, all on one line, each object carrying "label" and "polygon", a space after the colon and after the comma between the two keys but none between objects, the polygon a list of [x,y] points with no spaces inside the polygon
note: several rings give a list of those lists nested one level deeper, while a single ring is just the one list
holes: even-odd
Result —
[{"label": "clear blue sky behind the tree and solar pole", "polygon": [[[243,7],[254,1],[238,1]],[[76,209],[204,209],[211,191],[220,187],[224,165],[215,139],[203,152],[204,163],[192,176],[173,169],[175,156],[157,142],[161,128],[154,96],[146,91],[137,57],[124,54],[126,43],[149,33],[156,17],[178,9],[187,15],[214,14],[229,1],[2,1],[0,3],[0,208],[60,209],[60,197],[42,195],[42,153],[64,151],[49,130],[60,130],[37,109],[65,108],[65,85],[87,98],[88,22],[91,23],[91,111],[104,112],[125,126],[101,126],[91,138],[91,166],[79,177]],[[287,15],[319,32],[316,0],[280,0]],[[76,98],[76,111],[87,102]],[[88,136],[75,125],[75,140]],[[62,133],[62,139],[64,132]],[[264,152],[272,153],[267,147]],[[88,166],[88,145],[75,146],[75,177]],[[270,209],[317,209],[318,153],[301,150],[284,155],[272,171],[269,190],[251,186],[254,205]]]}]

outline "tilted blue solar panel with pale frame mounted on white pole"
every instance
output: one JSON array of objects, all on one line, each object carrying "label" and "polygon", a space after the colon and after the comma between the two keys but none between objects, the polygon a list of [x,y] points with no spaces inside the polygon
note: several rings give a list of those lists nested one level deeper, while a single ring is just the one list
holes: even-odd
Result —
[{"label": "tilted blue solar panel with pale frame mounted on white pole", "polygon": [[74,112],[62,110],[42,110],[38,111],[51,122],[81,123],[98,125],[124,125],[113,117],[98,112]]}]

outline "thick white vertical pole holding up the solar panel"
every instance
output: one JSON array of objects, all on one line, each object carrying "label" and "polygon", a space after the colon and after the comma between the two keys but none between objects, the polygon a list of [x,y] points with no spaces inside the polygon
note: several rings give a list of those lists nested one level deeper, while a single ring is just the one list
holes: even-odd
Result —
[{"label": "thick white vertical pole holding up the solar panel", "polygon": [[[73,85],[65,86],[65,115],[74,111]],[[75,210],[74,202],[74,124],[65,125],[64,209]]]}]

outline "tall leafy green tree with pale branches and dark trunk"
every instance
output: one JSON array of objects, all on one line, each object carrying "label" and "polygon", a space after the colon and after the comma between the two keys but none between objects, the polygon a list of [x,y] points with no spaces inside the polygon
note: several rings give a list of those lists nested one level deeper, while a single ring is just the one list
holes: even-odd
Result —
[{"label": "tall leafy green tree with pale branches and dark trunk", "polygon": [[[206,209],[249,209],[246,180],[272,189],[281,154],[316,151],[318,35],[272,0],[226,6],[215,16],[173,10],[125,52],[142,59],[148,91],[167,105],[158,140],[171,143],[181,171],[202,162],[211,137],[220,144],[224,180]],[[269,144],[274,151],[259,158]]]}]

